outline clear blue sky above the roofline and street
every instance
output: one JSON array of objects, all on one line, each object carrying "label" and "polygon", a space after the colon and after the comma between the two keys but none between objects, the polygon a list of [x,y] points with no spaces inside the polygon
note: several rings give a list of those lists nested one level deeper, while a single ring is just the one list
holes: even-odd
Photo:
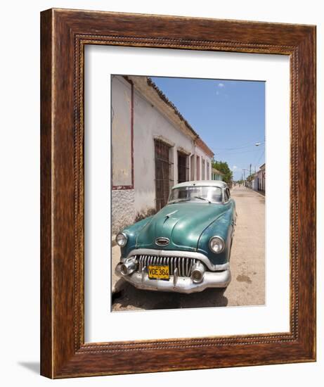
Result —
[{"label": "clear blue sky above the roofline and street", "polygon": [[[238,180],[264,163],[265,82],[152,77]],[[256,143],[261,145],[255,146]]]}]

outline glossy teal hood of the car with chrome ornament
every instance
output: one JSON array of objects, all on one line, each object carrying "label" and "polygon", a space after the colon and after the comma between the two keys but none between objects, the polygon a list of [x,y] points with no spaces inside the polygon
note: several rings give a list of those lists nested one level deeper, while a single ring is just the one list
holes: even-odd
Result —
[{"label": "glossy teal hood of the car with chrome ornament", "polygon": [[214,203],[175,203],[166,205],[139,231],[136,247],[161,249],[155,239],[169,239],[163,250],[197,250],[202,232],[226,211]]}]

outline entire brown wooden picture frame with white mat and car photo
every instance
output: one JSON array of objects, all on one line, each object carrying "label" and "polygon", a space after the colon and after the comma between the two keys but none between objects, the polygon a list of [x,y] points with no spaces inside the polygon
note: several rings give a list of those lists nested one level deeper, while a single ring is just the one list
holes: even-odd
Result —
[{"label": "entire brown wooden picture frame with white mat and car photo", "polygon": [[41,13],[41,374],[316,360],[316,28]]}]

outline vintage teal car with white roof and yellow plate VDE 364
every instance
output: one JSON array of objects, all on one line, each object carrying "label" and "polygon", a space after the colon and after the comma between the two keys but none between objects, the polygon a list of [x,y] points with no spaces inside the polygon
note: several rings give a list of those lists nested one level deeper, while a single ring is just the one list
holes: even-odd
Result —
[{"label": "vintage teal car with white roof and yellow plate VDE 364", "polygon": [[231,281],[235,220],[226,183],[176,184],[164,208],[117,234],[122,257],[115,273],[146,290],[225,288]]}]

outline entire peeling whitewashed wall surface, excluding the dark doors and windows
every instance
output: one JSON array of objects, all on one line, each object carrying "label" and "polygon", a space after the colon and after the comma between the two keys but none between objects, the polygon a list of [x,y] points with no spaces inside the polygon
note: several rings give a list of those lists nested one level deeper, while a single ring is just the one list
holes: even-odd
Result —
[{"label": "entire peeling whitewashed wall surface, excluding the dark doors and windows", "polygon": [[[210,158],[193,137],[183,132],[170,120],[168,106],[155,106],[150,99],[134,87],[133,94],[133,163],[131,146],[131,84],[122,76],[112,77],[112,234],[137,220],[153,215],[155,203],[155,139],[166,141],[170,146],[173,161],[171,176],[173,184],[178,182],[177,151],[200,156],[200,179],[202,158],[205,159],[205,177]],[[189,176],[197,176],[196,157],[188,160]],[[132,170],[134,186],[132,186]],[[208,176],[207,176],[208,175]]]}]

